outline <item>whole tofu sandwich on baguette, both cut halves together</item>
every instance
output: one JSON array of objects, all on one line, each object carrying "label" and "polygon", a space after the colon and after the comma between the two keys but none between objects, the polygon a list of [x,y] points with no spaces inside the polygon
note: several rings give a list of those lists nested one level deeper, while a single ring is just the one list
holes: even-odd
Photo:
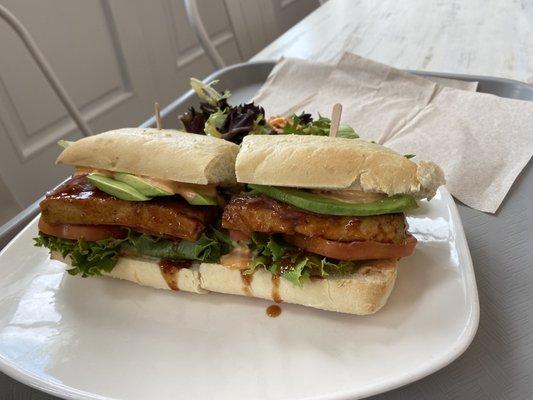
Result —
[{"label": "whole tofu sandwich on baguette, both cut halves together", "polygon": [[126,128],[67,143],[71,178],[41,202],[38,246],[74,275],[366,315],[416,239],[405,212],[444,184],[356,138],[248,135],[239,146]]}]

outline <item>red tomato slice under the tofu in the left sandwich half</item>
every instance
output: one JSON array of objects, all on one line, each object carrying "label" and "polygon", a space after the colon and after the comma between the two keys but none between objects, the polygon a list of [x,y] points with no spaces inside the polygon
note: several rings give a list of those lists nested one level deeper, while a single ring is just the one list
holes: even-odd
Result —
[{"label": "red tomato slice under the tofu in the left sandwich half", "polygon": [[63,239],[96,242],[103,239],[122,239],[127,232],[119,226],[111,225],[71,225],[71,224],[49,224],[41,217],[39,219],[39,230],[50,236]]}]

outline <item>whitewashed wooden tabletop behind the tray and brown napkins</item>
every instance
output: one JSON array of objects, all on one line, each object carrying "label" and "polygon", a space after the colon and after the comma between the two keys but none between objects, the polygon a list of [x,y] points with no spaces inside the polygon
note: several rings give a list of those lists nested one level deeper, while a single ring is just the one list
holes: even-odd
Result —
[{"label": "whitewashed wooden tabletop behind the tray and brown napkins", "polygon": [[401,69],[533,83],[533,1],[330,0],[252,60],[333,63],[345,51]]}]

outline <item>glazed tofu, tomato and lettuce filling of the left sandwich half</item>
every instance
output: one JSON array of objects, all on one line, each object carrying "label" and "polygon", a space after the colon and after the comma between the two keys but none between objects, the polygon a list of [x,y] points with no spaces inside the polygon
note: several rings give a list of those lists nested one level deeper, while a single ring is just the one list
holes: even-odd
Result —
[{"label": "glazed tofu, tomato and lettuce filling of the left sandwich half", "polygon": [[36,244],[70,257],[71,274],[110,272],[120,256],[216,262],[231,247],[214,227],[218,207],[192,205],[177,194],[123,200],[87,173],[47,193],[40,209]]}]

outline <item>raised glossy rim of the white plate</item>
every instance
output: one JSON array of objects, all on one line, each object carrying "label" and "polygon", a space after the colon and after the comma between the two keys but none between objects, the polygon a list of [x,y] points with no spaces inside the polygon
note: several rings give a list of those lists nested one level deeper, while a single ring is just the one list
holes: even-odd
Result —
[{"label": "raised glossy rim of the white plate", "polygon": [[[410,383],[416,382],[426,376],[431,375],[432,373],[446,367],[451,364],[457,358],[459,358],[466,349],[470,346],[474,337],[476,335],[478,326],[479,326],[479,295],[476,285],[476,278],[474,272],[474,266],[472,262],[472,256],[470,254],[470,249],[468,247],[468,242],[466,240],[466,235],[463,228],[463,223],[457,209],[457,204],[455,203],[452,195],[448,189],[444,186],[439,188],[439,192],[443,196],[443,200],[448,205],[450,221],[454,224],[454,237],[456,238],[456,245],[460,247],[460,253],[465,255],[464,265],[461,266],[460,271],[465,280],[467,303],[470,305],[467,314],[467,322],[464,326],[459,338],[454,343],[452,351],[445,353],[439,356],[436,359],[423,364],[421,367],[409,373],[396,376],[395,378],[388,379],[383,383],[377,383],[369,385],[368,387],[361,387],[357,389],[347,389],[337,392],[332,392],[329,394],[321,394],[317,396],[307,396],[303,397],[300,400],[354,400],[361,399],[380,393],[385,393],[393,389],[408,385]],[[37,215],[34,219],[31,220],[28,225],[26,225],[9,243],[0,251],[0,258],[4,253],[11,247],[11,245],[28,229],[31,228],[36,219],[40,216]],[[57,396],[62,399],[82,399],[82,400],[117,400],[117,398],[101,396],[95,393],[90,393],[84,390],[79,390],[74,387],[64,385],[59,382],[54,382],[52,380],[47,380],[43,377],[38,376],[37,374],[25,369],[18,367],[14,362],[7,360],[2,354],[0,354],[0,372],[6,374],[7,376],[15,379],[18,382],[21,382],[25,385],[28,385],[32,388],[41,390],[45,393]]]}]

